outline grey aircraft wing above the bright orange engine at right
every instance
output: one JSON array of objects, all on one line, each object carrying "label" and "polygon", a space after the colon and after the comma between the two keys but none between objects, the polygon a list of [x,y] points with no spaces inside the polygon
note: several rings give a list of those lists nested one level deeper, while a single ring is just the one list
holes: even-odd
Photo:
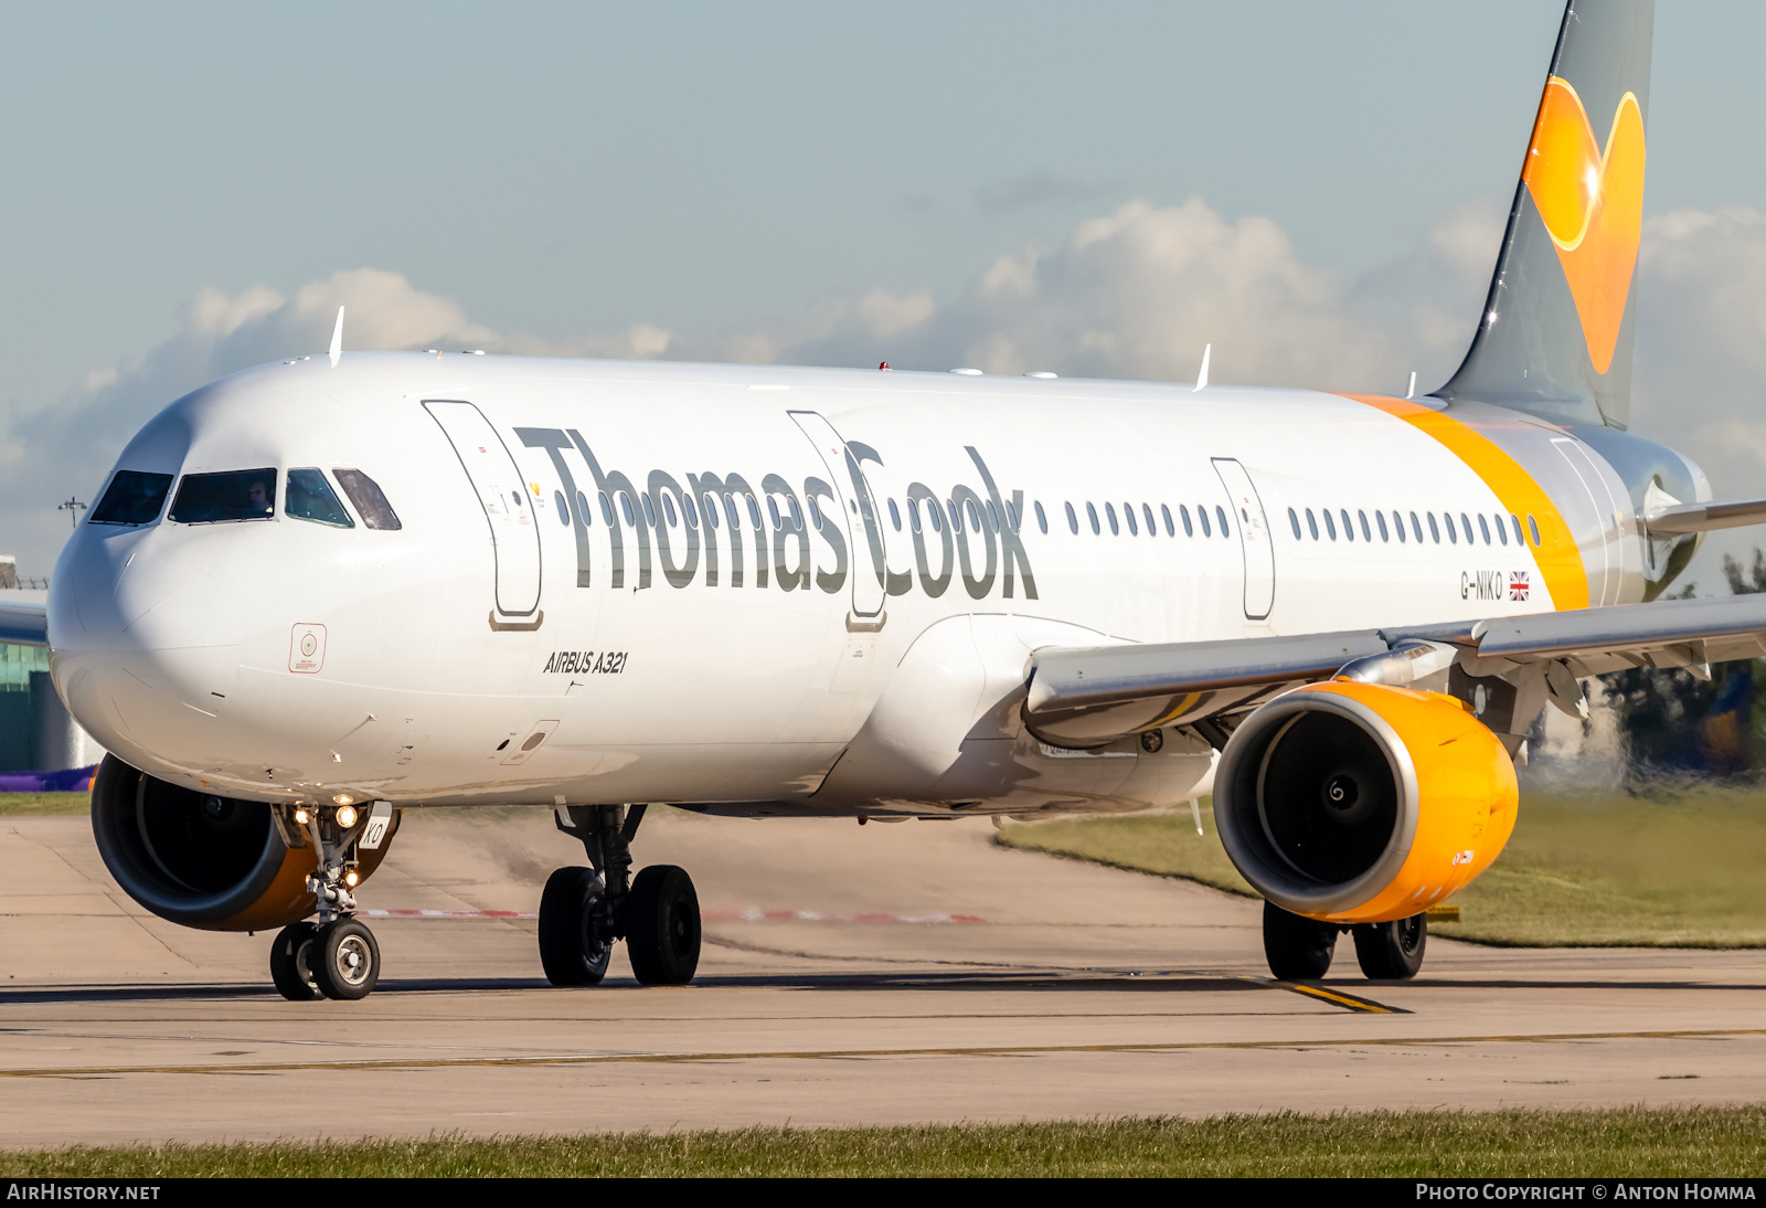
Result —
[{"label": "grey aircraft wing above the bright orange engine at right", "polygon": [[[1413,683],[1439,671],[1450,682],[1538,687],[1538,705],[1577,708],[1577,678],[1625,668],[1687,668],[1766,655],[1766,595],[1582,608],[1453,625],[1229,641],[1045,648],[1031,657],[1024,721],[1056,745],[1102,745],[1157,726],[1196,726],[1220,745],[1215,719],[1249,712],[1298,683],[1342,671]],[[1349,669],[1347,664],[1356,664]],[[1453,691],[1452,687],[1448,691]],[[1515,694],[1508,692],[1513,703]],[[1505,729],[1526,729],[1536,710],[1513,710]],[[1492,719],[1494,721],[1494,719]]]}]

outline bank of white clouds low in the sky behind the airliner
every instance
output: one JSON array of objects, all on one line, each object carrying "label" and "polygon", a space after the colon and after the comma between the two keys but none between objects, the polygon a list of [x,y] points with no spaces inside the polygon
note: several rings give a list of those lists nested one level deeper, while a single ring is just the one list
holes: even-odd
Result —
[{"label": "bank of white clouds low in the sky behind the airliner", "polygon": [[[1445,214],[1385,265],[1339,281],[1303,263],[1272,221],[1227,221],[1199,200],[1134,201],[1053,245],[1000,256],[955,297],[925,290],[828,295],[743,328],[632,323],[542,341],[473,323],[396,272],[357,268],[283,295],[200,293],[182,330],[134,362],[97,369],[57,406],[0,433],[0,514],[21,565],[44,572],[65,537],[53,505],[92,491],[122,443],[166,401],[224,373],[330,339],[346,348],[486,348],[539,355],[671,357],[1189,380],[1204,343],[1215,381],[1402,390],[1459,364],[1489,284],[1506,210]],[[1676,210],[1646,223],[1637,270],[1634,429],[1667,440],[1722,495],[1766,495],[1766,214]],[[1717,585],[1722,547],[1695,572]],[[1708,565],[1709,563],[1709,565]],[[1709,583],[1706,583],[1706,579]]]}]

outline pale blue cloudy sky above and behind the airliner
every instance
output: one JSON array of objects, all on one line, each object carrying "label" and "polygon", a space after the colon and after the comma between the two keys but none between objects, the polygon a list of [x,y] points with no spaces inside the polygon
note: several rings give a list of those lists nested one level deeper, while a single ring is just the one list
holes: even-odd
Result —
[{"label": "pale blue cloudy sky above and behind the airliner", "polygon": [[[1061,367],[1068,328],[1116,321],[1130,295],[1031,313],[985,283],[1001,263],[1072,268],[1077,233],[1097,231],[1084,224],[1113,223],[1116,279],[1169,321],[1102,371],[1180,376],[1194,353],[1148,351],[1171,332],[1196,353],[1215,341],[1217,380],[1402,389],[1420,367],[1427,389],[1469,334],[1559,14],[1552,0],[9,5],[0,549],[46,572],[65,525],[53,502],[90,493],[134,424],[240,357],[323,346],[334,298],[351,300],[357,343],[387,346],[470,332],[862,364],[894,344],[943,367],[1005,339],[1007,360]],[[1695,253],[1725,297],[1766,311],[1766,261],[1736,279],[1766,247],[1747,217],[1766,212],[1762,44],[1762,5],[1658,7],[1646,212],[1731,215],[1658,231],[1664,298],[1697,297],[1704,277],[1681,265]],[[1219,253],[1196,297],[1167,281],[1190,281],[1194,258],[1153,286],[1121,267],[1171,240]],[[1261,323],[1302,334],[1272,343],[1256,307],[1196,320],[1233,274],[1300,281]],[[1713,452],[1690,452],[1727,493],[1766,489],[1766,426],[1761,452],[1736,434],[1766,387],[1745,348],[1757,327],[1715,353],[1702,328],[1681,341],[1717,374],[1701,390],[1720,399],[1699,411]],[[1655,366],[1641,394],[1676,380],[1676,348],[1641,336]],[[1655,389],[1639,427],[1685,431]]]}]

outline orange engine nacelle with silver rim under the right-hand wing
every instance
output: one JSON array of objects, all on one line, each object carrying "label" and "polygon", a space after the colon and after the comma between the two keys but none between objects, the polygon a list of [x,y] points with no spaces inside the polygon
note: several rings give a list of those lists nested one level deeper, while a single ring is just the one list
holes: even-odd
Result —
[{"label": "orange engine nacelle with silver rim under the right-hand wing", "polygon": [[1332,680],[1233,731],[1215,825],[1282,910],[1390,922],[1483,872],[1515,828],[1517,797],[1503,744],[1452,696]]}]

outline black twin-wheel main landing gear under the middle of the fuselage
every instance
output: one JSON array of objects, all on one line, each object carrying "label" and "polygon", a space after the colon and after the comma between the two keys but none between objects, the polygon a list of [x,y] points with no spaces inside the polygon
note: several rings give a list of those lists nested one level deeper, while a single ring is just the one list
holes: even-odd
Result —
[{"label": "black twin-wheel main landing gear under the middle of the fuselage", "polygon": [[643,805],[560,807],[558,830],[581,839],[592,867],[558,869],[540,894],[540,964],[553,985],[600,982],[618,940],[645,985],[685,985],[699,968],[692,878],[671,864],[630,874],[643,818]]}]

